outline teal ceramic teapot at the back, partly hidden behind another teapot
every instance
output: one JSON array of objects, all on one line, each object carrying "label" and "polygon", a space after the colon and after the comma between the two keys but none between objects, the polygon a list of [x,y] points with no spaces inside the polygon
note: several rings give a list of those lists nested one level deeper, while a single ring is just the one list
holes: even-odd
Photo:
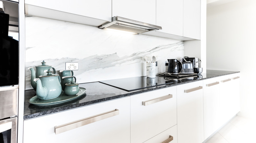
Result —
[{"label": "teal ceramic teapot at the back, partly hidden behind another teapot", "polygon": [[56,71],[54,68],[52,68],[52,66],[46,65],[45,61],[41,63],[42,65],[35,66],[36,72],[32,67],[28,68],[31,71],[31,80],[30,80],[31,86],[35,91],[36,91],[36,82],[34,81],[35,78],[39,78],[40,75],[46,75],[48,69],[53,69],[53,73],[56,74]]}]

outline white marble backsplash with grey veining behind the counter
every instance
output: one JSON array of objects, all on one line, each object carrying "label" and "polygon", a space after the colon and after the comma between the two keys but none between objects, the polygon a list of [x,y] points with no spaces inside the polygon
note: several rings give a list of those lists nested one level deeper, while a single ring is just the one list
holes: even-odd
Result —
[{"label": "white marble backsplash with grey veining behind the counter", "polygon": [[26,89],[28,67],[44,60],[59,73],[66,62],[78,62],[77,83],[146,76],[144,56],[156,56],[157,73],[166,71],[165,61],[184,55],[179,40],[102,30],[95,26],[26,17]]}]

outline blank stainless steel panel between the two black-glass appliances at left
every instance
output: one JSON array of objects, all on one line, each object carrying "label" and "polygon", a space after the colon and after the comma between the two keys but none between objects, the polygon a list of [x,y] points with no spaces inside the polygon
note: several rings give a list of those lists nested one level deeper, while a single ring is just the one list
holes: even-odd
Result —
[{"label": "blank stainless steel panel between the two black-glass appliances at left", "polygon": [[18,115],[18,87],[1,87],[0,99],[0,120]]}]

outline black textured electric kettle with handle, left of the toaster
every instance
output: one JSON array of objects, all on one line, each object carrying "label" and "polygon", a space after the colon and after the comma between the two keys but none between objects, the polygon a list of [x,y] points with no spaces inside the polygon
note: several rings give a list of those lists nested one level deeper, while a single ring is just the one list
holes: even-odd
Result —
[{"label": "black textured electric kettle with handle, left of the toaster", "polygon": [[178,59],[167,59],[168,60],[168,73],[179,74],[183,68],[182,63]]}]

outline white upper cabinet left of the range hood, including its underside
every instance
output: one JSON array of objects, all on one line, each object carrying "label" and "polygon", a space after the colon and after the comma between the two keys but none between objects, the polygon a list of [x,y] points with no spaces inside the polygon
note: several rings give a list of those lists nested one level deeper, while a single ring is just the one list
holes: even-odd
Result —
[{"label": "white upper cabinet left of the range hood, including its underside", "polygon": [[111,0],[25,0],[27,15],[98,26],[112,21]]}]

